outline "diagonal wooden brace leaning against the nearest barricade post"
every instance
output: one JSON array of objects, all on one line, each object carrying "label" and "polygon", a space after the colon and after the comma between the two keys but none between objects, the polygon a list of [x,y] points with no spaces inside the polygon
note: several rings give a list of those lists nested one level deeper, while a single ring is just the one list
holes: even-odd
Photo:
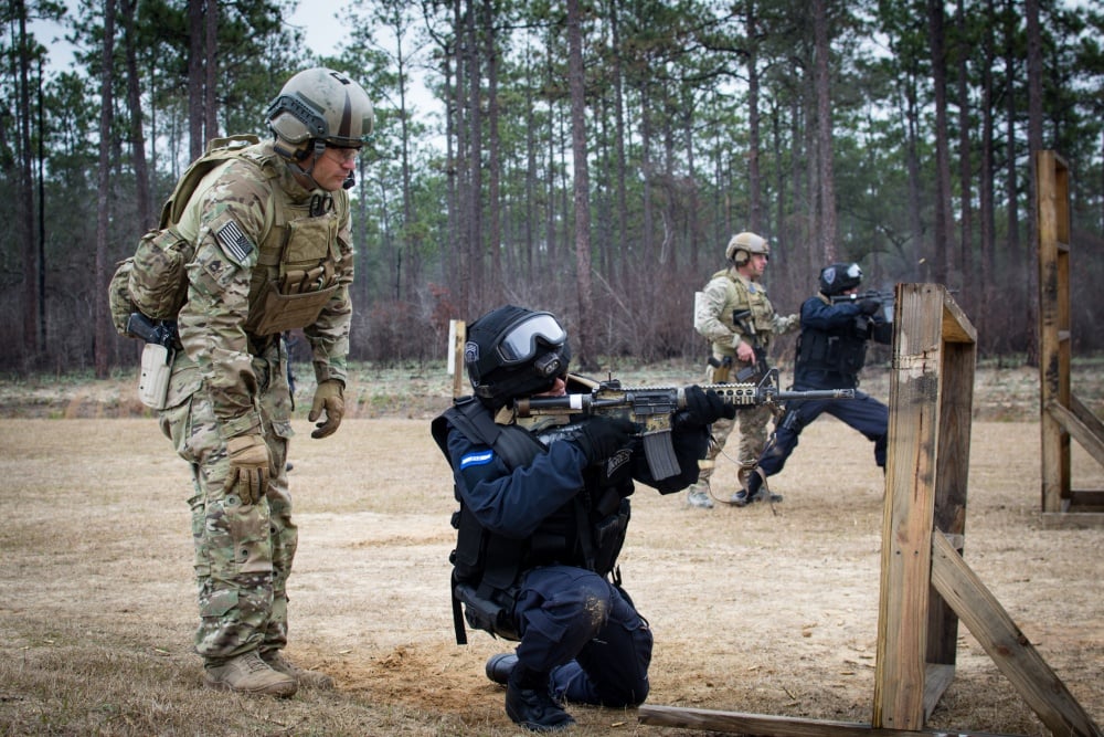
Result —
[{"label": "diagonal wooden brace leaning against the nearest barricade post", "polygon": [[932,585],[1054,737],[1102,737],[1100,727],[943,535],[932,535]]}]

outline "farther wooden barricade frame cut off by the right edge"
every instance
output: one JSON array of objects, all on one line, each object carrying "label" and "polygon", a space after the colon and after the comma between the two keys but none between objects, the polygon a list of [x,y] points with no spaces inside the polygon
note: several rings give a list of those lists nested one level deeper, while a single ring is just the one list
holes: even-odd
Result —
[{"label": "farther wooden barricade frame cut off by the right edge", "polygon": [[1104,422],[1070,387],[1070,169],[1047,150],[1036,154],[1036,165],[1042,520],[1049,526],[1104,526],[1104,491],[1071,488],[1070,440],[1104,465]]}]

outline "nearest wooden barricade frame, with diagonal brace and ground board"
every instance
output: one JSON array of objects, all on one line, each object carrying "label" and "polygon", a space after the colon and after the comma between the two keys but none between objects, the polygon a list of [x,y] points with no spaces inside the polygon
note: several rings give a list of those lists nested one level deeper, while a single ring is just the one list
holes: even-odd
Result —
[{"label": "nearest wooden barricade frame, with diagonal brace and ground board", "polygon": [[898,284],[895,297],[871,723],[646,704],[643,724],[778,737],[945,735],[924,723],[954,678],[962,621],[1055,737],[1104,737],[962,558],[974,326],[942,285]]}]

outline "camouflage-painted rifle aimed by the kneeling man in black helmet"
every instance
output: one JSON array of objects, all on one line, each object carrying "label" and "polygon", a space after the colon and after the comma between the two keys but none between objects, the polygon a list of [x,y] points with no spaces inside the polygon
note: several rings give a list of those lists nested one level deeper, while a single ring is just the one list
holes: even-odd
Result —
[{"label": "camouflage-painted rifle aimed by the kneeling man in black helmet", "polygon": [[[826,389],[817,391],[782,391],[778,389],[778,369],[771,369],[758,383],[703,383],[728,404],[749,409],[771,404],[782,410],[783,402],[810,399],[854,399],[853,389]],[[573,415],[624,418],[637,428],[644,440],[648,467],[657,481],[679,473],[675,446],[671,443],[671,424],[675,413],[686,408],[687,387],[623,387],[609,379],[601,382],[591,393],[564,397],[531,397],[513,404],[514,420],[527,430],[545,425],[562,425]]]}]

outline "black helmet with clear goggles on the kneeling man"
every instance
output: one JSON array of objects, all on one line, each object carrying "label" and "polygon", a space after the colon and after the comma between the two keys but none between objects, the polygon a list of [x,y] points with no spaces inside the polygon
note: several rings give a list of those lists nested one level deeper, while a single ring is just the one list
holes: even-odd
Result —
[{"label": "black helmet with clear goggles on the kneeling man", "polygon": [[567,372],[567,333],[551,313],[503,305],[468,328],[464,367],[471,388],[491,409],[516,397],[548,391]]}]

